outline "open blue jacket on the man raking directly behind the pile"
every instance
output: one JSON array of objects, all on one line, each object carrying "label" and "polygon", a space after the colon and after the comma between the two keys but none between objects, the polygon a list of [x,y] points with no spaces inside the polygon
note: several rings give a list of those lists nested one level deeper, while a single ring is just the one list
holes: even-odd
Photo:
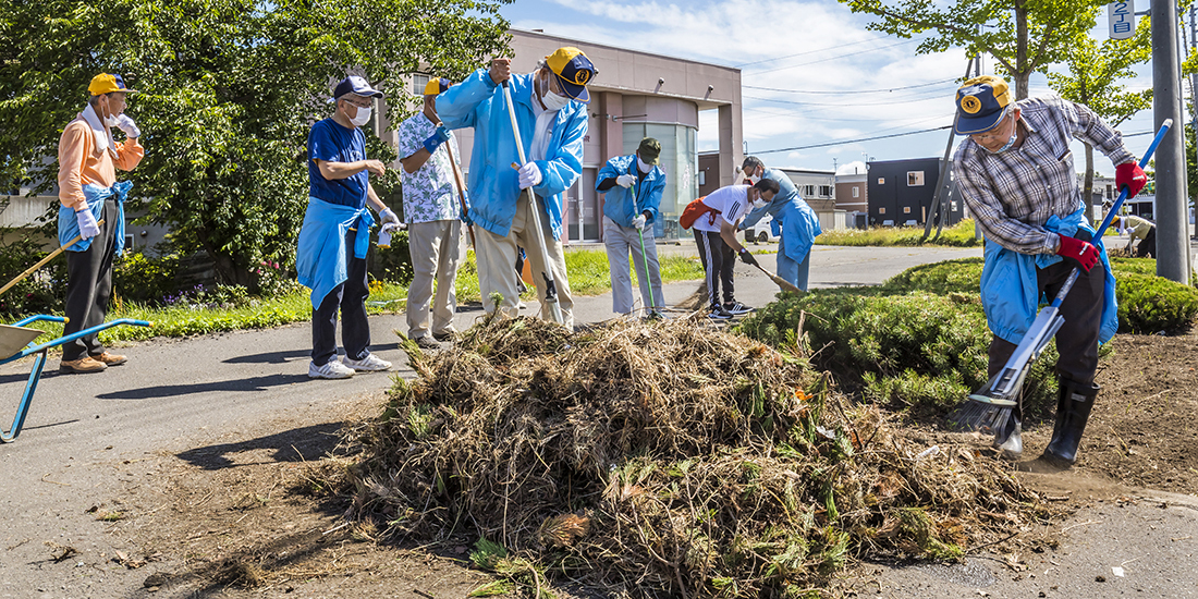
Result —
[{"label": "open blue jacket on the man raking directly behind the pile", "polygon": [[[515,105],[520,140],[527,157],[532,150],[537,117],[532,108],[532,74],[513,74],[512,102]],[[470,157],[470,219],[495,235],[507,237],[520,198],[520,177],[512,163],[519,163],[512,120],[503,90],[488,69],[480,68],[461,84],[437,96],[437,115],[446,127],[474,128]],[[536,161],[543,176],[532,190],[543,198],[553,238],[562,238],[562,193],[582,174],[582,138],[587,134],[587,107],[570,101],[557,111],[544,161]]]}]

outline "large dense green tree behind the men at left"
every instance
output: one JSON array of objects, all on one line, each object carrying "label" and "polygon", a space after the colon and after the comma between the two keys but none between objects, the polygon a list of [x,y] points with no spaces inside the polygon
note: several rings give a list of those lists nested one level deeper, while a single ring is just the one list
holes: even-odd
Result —
[{"label": "large dense green tree behind the men at left", "polygon": [[[290,265],[307,204],[307,134],[347,73],[410,108],[404,77],[464,77],[504,48],[507,0],[44,0],[0,8],[0,176],[56,176],[62,127],[87,81],[121,73],[146,158],[134,202],[204,249],[226,283],[262,261]],[[398,102],[395,101],[398,99]],[[373,157],[393,153],[368,134]],[[48,158],[49,157],[49,158]],[[376,182],[381,194],[398,174]]]}]

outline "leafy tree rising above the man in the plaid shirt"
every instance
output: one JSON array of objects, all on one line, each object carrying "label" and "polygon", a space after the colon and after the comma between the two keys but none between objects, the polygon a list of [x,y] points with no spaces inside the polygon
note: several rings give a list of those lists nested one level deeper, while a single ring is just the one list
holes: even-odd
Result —
[{"label": "leafy tree rising above the man in the plaid shirt", "polygon": [[1069,44],[1094,28],[1095,0],[839,0],[853,12],[879,18],[869,25],[898,37],[934,35],[920,54],[964,47],[987,53],[1015,83],[1016,99],[1028,97],[1031,73],[1058,62]]}]

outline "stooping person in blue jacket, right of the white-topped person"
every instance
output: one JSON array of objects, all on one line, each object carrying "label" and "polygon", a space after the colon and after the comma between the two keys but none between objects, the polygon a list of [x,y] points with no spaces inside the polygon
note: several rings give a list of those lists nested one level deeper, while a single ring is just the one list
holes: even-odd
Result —
[{"label": "stooping person in blue jacket, right of the white-topped person", "polygon": [[745,179],[754,184],[762,179],[778,181],[781,192],[774,196],[764,208],[755,210],[745,217],[742,229],[748,229],[766,214],[774,217],[782,229],[782,236],[778,243],[778,276],[791,282],[794,286],[806,291],[807,279],[811,272],[811,246],[816,237],[823,232],[819,229],[819,217],[816,211],[803,201],[799,189],[785,173],[778,169],[767,169],[761,158],[746,156],[740,164],[740,170]]}]

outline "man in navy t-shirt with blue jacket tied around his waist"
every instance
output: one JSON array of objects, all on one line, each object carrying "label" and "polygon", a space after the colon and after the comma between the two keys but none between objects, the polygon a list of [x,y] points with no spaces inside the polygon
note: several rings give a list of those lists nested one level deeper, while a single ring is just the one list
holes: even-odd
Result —
[{"label": "man in navy t-shirt with blue jacket tied around his waist", "polygon": [[[311,126],[308,134],[308,212],[296,253],[300,283],[311,289],[313,379],[347,379],[355,371],[388,370],[391,363],[370,353],[365,300],[367,250],[374,217],[383,229],[400,228],[399,217],[370,186],[370,175],[387,168],[367,159],[365,135],[371,98],[382,97],[361,77],[346,77],[333,91],[337,111]],[[337,358],[337,311],[341,311],[345,361]]]}]

